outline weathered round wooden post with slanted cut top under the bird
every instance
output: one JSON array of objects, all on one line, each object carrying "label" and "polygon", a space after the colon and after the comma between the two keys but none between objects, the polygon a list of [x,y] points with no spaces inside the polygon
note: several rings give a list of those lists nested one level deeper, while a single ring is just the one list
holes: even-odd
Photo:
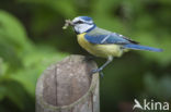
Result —
[{"label": "weathered round wooden post with slanted cut top under the bird", "polygon": [[100,112],[99,74],[93,61],[70,55],[49,66],[36,85],[36,112]]}]

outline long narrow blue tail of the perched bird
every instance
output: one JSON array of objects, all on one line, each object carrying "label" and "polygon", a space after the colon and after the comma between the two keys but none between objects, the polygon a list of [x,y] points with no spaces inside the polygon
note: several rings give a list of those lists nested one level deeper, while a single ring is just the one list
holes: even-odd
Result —
[{"label": "long narrow blue tail of the perched bird", "polygon": [[161,52],[162,51],[162,49],[151,48],[151,47],[146,47],[146,46],[140,46],[140,45],[134,45],[134,43],[125,45],[124,48],[135,49],[135,50],[147,50],[147,51],[155,51],[155,52]]}]

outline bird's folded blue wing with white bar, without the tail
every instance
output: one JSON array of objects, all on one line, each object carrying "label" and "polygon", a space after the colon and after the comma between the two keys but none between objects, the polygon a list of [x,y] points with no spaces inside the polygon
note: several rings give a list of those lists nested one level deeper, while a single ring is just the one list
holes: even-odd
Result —
[{"label": "bird's folded blue wing with white bar, without the tail", "polygon": [[86,34],[84,38],[94,45],[109,45],[109,43],[116,43],[116,45],[126,45],[126,43],[138,43],[134,40],[130,40],[122,35],[116,33],[111,33],[104,29],[94,29],[91,33]]}]

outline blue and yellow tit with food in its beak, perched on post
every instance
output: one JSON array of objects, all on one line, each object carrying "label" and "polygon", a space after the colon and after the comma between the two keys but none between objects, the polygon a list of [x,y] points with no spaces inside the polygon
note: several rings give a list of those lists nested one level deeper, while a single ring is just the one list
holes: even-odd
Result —
[{"label": "blue and yellow tit with food in its beak, perched on post", "polygon": [[73,27],[77,40],[83,49],[92,55],[107,59],[102,66],[92,70],[92,74],[102,72],[114,58],[119,58],[129,50],[162,51],[162,49],[141,46],[123,35],[100,28],[90,16],[77,16],[72,21],[66,20],[64,28],[69,25]]}]

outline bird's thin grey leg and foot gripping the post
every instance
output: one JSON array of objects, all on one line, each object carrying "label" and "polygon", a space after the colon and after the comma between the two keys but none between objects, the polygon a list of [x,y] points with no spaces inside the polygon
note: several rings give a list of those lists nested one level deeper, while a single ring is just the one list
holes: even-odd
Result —
[{"label": "bird's thin grey leg and foot gripping the post", "polygon": [[[99,67],[96,70],[92,70],[92,74],[101,72],[107,64],[110,64],[112,62],[112,60],[113,60],[113,57],[109,57],[107,61],[101,67]],[[100,73],[100,74],[103,76],[103,73]]]}]

